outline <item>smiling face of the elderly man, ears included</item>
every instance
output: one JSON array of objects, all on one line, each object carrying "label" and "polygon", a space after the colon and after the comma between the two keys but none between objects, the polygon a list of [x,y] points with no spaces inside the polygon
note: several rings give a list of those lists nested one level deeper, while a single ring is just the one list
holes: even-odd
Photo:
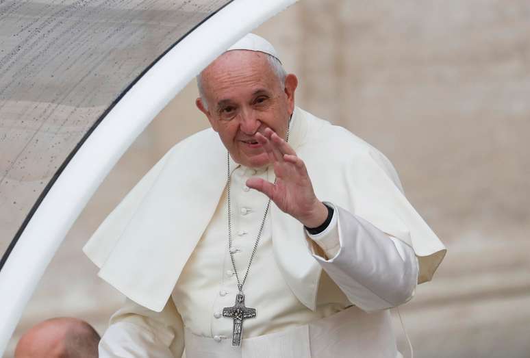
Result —
[{"label": "smiling face of the elderly man, ears included", "polygon": [[268,155],[255,134],[270,128],[285,138],[294,110],[296,76],[288,75],[281,88],[264,53],[236,50],[223,53],[205,68],[201,81],[207,109],[200,98],[197,107],[232,159],[251,168],[268,165]]}]

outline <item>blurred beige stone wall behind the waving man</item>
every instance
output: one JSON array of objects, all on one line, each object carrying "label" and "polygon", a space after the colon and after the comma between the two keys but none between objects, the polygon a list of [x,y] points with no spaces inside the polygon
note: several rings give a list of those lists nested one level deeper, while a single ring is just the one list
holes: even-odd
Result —
[{"label": "blurred beige stone wall behind the waving man", "polygon": [[[301,1],[257,29],[299,76],[296,102],[374,144],[449,252],[401,315],[416,357],[530,357],[530,2]],[[103,333],[123,297],[81,247],[175,142],[207,127],[190,84],[123,156],[45,272],[25,329]],[[396,319],[405,356],[403,331]]]}]

